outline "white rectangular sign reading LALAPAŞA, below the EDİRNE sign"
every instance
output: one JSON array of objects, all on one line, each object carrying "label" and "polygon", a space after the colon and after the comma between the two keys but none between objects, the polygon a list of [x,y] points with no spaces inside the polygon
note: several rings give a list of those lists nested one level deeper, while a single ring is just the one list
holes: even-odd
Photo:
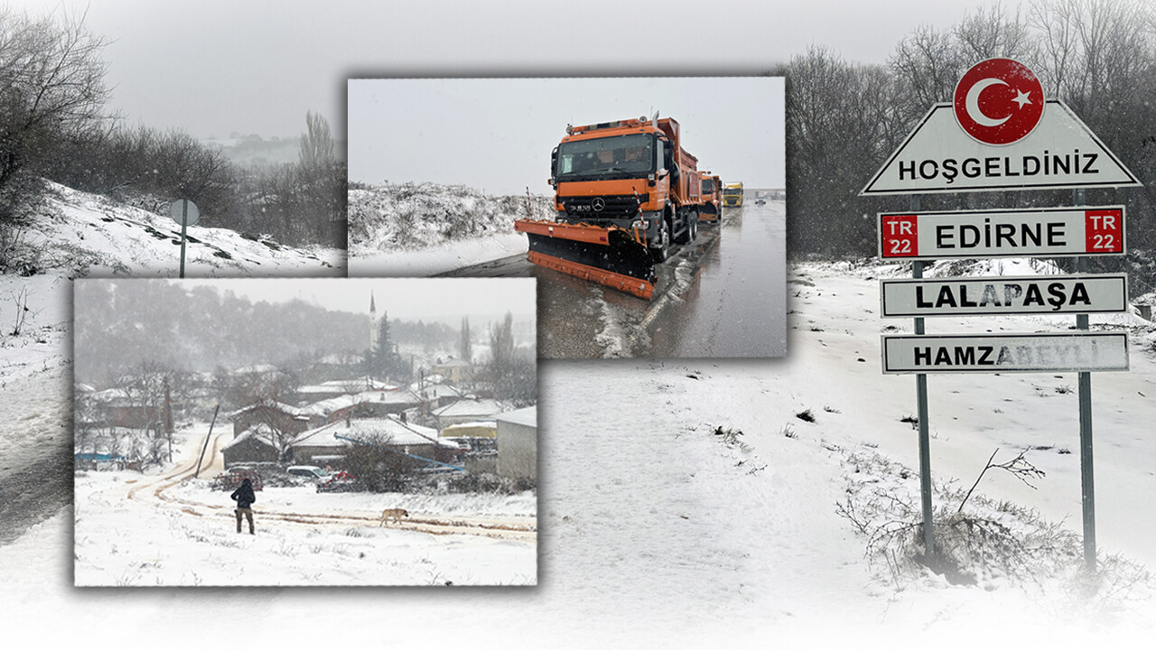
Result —
[{"label": "white rectangular sign reading LALAPA\u015eA, below the ED\u0130RNE sign", "polygon": [[1113,313],[1128,309],[1128,278],[1029,275],[880,280],[884,318]]}]

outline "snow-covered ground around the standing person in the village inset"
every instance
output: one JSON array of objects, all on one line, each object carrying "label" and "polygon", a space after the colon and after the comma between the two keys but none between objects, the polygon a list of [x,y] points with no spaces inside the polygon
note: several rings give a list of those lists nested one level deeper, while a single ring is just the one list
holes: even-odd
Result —
[{"label": "snow-covered ground around the standing person in the village inset", "polygon": [[[175,467],[148,475],[81,472],[74,505],[82,586],[529,585],[536,579],[533,493],[318,493],[268,485],[259,534],[237,534],[229,493],[213,489],[216,445],[193,478],[209,423],[177,445]],[[231,440],[225,431],[215,436]],[[381,511],[403,508],[383,525]]]}]

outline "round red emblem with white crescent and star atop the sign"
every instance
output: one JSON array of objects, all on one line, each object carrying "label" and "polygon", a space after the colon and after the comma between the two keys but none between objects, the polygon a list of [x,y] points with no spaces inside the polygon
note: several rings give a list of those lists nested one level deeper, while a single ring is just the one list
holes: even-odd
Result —
[{"label": "round red emblem with white crescent and star atop the sign", "polygon": [[1044,87],[1020,61],[980,61],[955,87],[956,121],[968,135],[985,145],[1022,140],[1043,116]]}]

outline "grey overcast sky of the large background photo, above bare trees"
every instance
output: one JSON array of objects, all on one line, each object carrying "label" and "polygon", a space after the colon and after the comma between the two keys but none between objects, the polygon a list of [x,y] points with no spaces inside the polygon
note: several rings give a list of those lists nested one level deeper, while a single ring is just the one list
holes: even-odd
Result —
[{"label": "grey overcast sky of the large background photo, above bare trees", "polygon": [[181,128],[199,138],[296,136],[312,110],[341,138],[349,77],[751,75],[812,44],[851,60],[883,62],[916,27],[950,25],[985,3],[0,0],[3,5],[36,15],[87,10],[86,24],[110,42],[111,105],[131,125]]}]

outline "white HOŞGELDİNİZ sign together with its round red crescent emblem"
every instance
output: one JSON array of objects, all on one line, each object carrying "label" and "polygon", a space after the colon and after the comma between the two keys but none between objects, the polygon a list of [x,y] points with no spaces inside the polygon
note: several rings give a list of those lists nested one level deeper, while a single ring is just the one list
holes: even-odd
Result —
[{"label": "white HO\u015eGELD\u0130N\u0130Z sign together with its round red crescent emblem", "polygon": [[969,69],[860,195],[1140,186],[1035,74],[1010,59]]}]

